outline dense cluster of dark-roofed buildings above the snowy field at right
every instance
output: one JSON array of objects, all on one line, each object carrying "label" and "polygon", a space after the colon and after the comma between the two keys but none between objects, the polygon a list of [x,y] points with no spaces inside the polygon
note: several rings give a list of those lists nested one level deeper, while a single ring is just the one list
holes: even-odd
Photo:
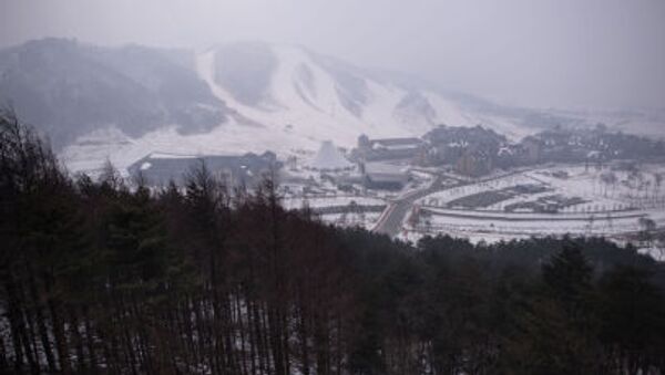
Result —
[{"label": "dense cluster of dark-roofed buildings above the snowy field at right", "polygon": [[665,157],[665,144],[636,135],[593,129],[554,128],[511,143],[492,129],[440,126],[423,136],[426,166],[452,166],[467,176],[487,175],[495,168],[540,163],[603,163],[616,159]]}]

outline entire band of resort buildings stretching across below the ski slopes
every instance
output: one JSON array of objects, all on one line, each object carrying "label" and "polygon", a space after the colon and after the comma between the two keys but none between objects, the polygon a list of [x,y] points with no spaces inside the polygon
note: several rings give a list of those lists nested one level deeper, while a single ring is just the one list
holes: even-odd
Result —
[{"label": "entire band of resort buildings stretching across below the ski slopes", "polygon": [[[460,175],[479,177],[497,168],[540,163],[589,163],[613,159],[665,157],[663,140],[610,133],[604,126],[593,129],[549,129],[509,142],[492,129],[439,126],[421,138],[358,138],[349,153],[324,142],[308,168],[335,180],[347,189],[364,185],[368,189],[399,190],[409,183],[409,167],[444,167]],[[253,185],[269,170],[282,167],[275,154],[238,156],[174,156],[150,154],[130,166],[131,175],[141,175],[150,184],[183,183],[183,173],[204,164],[229,185]],[[287,159],[295,170],[296,159]]]}]

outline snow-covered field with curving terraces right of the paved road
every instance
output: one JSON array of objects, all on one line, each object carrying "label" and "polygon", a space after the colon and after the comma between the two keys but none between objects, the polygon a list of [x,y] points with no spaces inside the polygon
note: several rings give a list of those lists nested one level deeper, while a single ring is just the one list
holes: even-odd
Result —
[{"label": "snow-covered field with curving terraces right of the paved road", "polygon": [[[614,177],[607,178],[608,174]],[[665,226],[663,176],[665,166],[661,165],[640,166],[637,171],[607,166],[554,166],[451,188],[420,199],[418,225],[406,228],[401,237],[415,240],[424,233],[447,233],[474,241],[498,241],[567,233],[621,238],[643,230],[644,219],[653,220],[657,227]],[[548,190],[516,195],[475,209],[448,207],[456,199],[526,184]],[[563,207],[555,213],[505,211],[512,204],[533,202],[550,196],[581,199],[580,204]]]}]

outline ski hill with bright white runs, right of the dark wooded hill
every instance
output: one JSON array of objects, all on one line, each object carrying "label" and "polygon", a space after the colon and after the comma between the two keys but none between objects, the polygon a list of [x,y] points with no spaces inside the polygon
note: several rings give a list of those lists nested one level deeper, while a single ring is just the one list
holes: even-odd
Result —
[{"label": "ski hill with bright white runs, right of the dark wooded hill", "polygon": [[[422,135],[438,124],[484,124],[519,136],[505,118],[466,111],[442,95],[409,88],[303,48],[234,44],[197,55],[200,76],[231,108],[289,147],[334,139]],[[300,138],[300,139],[298,139]]]}]

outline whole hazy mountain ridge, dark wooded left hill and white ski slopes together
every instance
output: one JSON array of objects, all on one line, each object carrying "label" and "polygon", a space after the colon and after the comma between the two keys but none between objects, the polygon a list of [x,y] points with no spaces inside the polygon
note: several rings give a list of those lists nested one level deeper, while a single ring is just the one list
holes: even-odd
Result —
[{"label": "whole hazy mountain ridge, dark wooded left hill and white ski slopes together", "polygon": [[72,170],[151,152],[307,154],[323,140],[421,136],[439,124],[520,138],[583,116],[497,105],[293,45],[206,51],[42,40],[0,51],[0,103],[51,136]]}]

